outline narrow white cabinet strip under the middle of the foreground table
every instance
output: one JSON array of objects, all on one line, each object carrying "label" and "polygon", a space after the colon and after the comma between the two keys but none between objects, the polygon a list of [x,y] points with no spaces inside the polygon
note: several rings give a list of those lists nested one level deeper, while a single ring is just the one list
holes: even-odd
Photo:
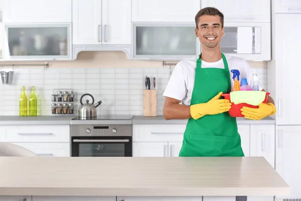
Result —
[{"label": "narrow white cabinet strip under the middle of the foreground table", "polygon": [[202,201],[202,196],[117,196],[116,201]]}]

